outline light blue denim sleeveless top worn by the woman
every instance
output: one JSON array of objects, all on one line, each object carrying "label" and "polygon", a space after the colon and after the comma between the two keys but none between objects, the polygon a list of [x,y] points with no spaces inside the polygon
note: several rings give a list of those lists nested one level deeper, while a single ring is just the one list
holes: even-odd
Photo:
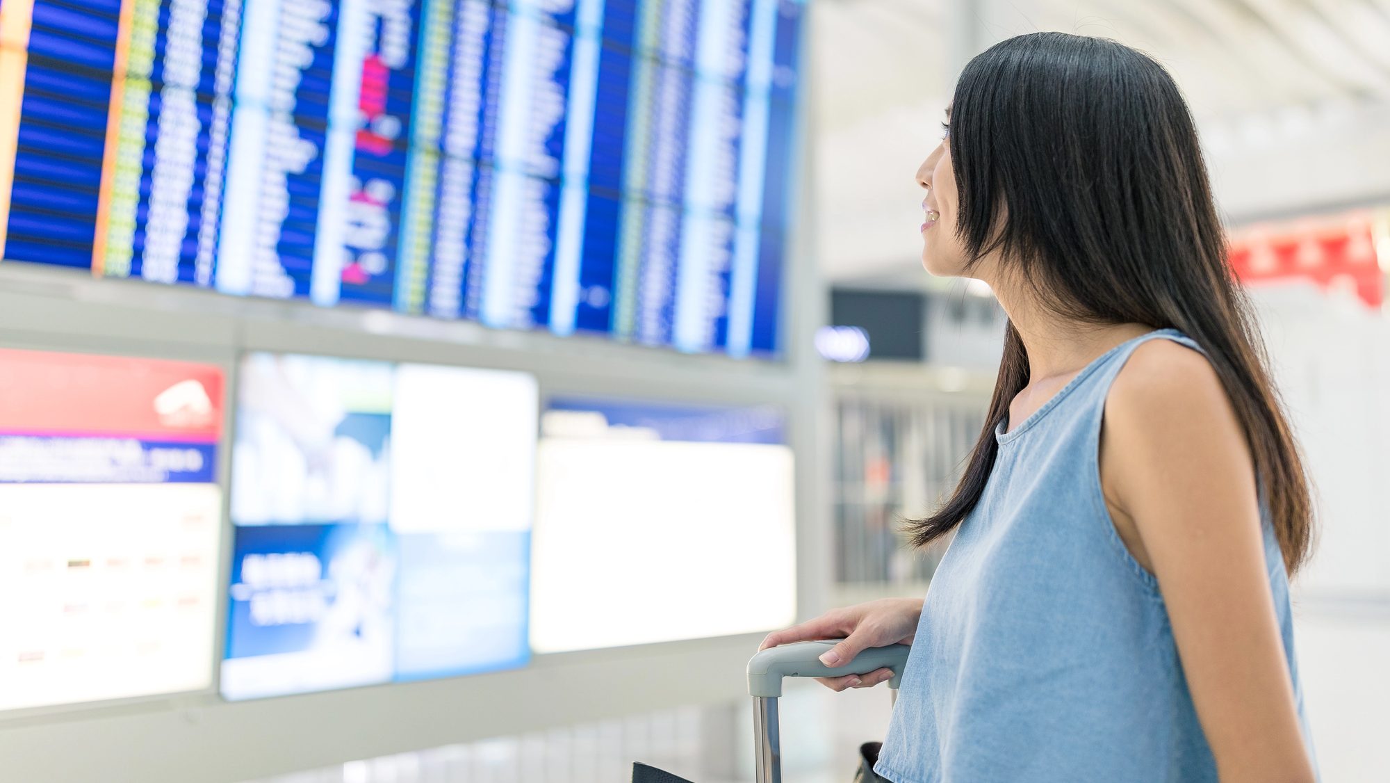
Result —
[{"label": "light blue denim sleeveless top worn by the woman", "polygon": [[[1158,581],[1101,494],[1111,382],[1159,330],[1109,350],[1012,433],[927,591],[874,772],[894,783],[1215,782]],[[1268,513],[1265,562],[1294,662],[1289,579]],[[1309,755],[1312,748],[1309,747]]]}]

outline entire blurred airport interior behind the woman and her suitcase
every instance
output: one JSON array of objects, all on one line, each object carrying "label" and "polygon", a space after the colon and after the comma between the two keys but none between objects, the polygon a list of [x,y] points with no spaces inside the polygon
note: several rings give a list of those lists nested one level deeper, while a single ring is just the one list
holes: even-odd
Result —
[{"label": "entire blurred airport interior behind the woman and her suitcase", "polygon": [[[744,665],[922,595],[1004,313],[913,174],[1012,35],[1176,76],[1318,491],[1323,780],[1390,769],[1390,1],[3,0],[17,780],[752,780]],[[785,779],[881,688],[790,683]]]}]

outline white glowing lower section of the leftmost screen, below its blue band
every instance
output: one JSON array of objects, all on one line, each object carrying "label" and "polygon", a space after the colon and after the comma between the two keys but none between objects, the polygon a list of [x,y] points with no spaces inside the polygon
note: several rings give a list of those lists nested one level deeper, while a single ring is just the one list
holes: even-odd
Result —
[{"label": "white glowing lower section of the leftmost screen, below its blue band", "polygon": [[206,688],[213,484],[0,484],[0,709]]}]

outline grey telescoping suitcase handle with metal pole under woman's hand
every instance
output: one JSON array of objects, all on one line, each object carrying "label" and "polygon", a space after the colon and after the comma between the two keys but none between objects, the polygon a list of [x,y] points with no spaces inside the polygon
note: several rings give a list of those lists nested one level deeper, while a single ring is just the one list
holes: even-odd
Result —
[{"label": "grey telescoping suitcase handle with metal pole under woman's hand", "polygon": [[758,761],[758,783],[781,783],[781,737],[777,720],[777,698],[781,697],[783,677],[842,677],[867,675],[878,669],[892,669],[888,687],[902,684],[902,669],[908,663],[906,644],[865,649],[844,666],[826,666],[820,656],[840,640],[799,641],[763,649],[748,662],[748,695],[753,697],[753,741]]}]

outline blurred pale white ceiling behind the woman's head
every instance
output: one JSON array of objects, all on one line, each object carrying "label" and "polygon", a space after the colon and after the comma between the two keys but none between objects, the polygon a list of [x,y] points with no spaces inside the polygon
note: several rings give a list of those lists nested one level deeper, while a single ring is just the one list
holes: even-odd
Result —
[{"label": "blurred pale white ceiling behind the woman's head", "polygon": [[913,174],[959,67],[1040,29],[1113,38],[1183,88],[1233,224],[1390,202],[1390,0],[816,0],[823,273],[931,285]]}]

